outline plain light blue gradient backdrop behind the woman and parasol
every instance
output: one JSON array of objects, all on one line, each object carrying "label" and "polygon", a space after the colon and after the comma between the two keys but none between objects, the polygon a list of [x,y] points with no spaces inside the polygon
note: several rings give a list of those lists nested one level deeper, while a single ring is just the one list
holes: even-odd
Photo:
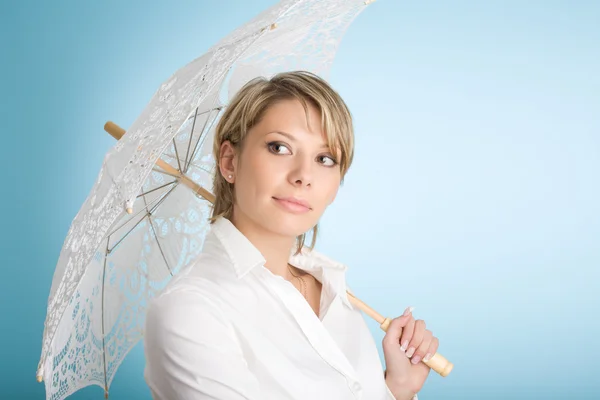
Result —
[{"label": "plain light blue gradient backdrop behind the woman and parasol", "polygon": [[[2,399],[44,397],[46,301],[114,145],[103,124],[127,128],[274,3],[2,3]],[[330,81],[357,154],[318,248],[373,308],[415,306],[440,338],[455,370],[423,400],[600,398],[599,21],[594,1],[379,0],[341,44]],[[149,398],[143,365],[138,345],[111,398]]]}]

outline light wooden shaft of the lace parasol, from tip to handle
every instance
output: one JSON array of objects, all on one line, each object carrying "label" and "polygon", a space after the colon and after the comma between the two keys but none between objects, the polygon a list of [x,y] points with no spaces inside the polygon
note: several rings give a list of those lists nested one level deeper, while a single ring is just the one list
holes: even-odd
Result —
[{"label": "light wooden shaft of the lace parasol, from tip to handle", "polygon": [[[121,139],[121,137],[123,137],[123,135],[125,134],[125,129],[121,128],[119,125],[115,124],[112,121],[108,121],[106,124],[104,124],[104,130],[106,132],[110,133],[110,135],[117,140]],[[169,164],[167,164],[160,158],[156,161],[156,165],[161,167],[163,170],[165,170],[170,175],[178,177],[179,180],[184,185],[188,186],[194,192],[201,195],[202,197],[204,197],[206,200],[210,201],[211,203],[214,203],[215,197],[212,193],[210,193],[208,190],[204,189],[202,186],[198,185],[197,183],[195,183],[194,181],[189,179],[187,176],[183,175],[180,171],[171,167]],[[127,210],[127,212],[129,212],[131,214],[131,210]],[[350,299],[350,301],[352,303],[354,303],[354,305],[356,307],[358,307],[365,314],[367,314],[368,316],[373,318],[375,321],[377,321],[380,324],[381,329],[383,329],[384,332],[387,332],[387,329],[390,326],[390,323],[392,322],[392,320],[390,318],[385,318],[385,317],[381,316],[380,314],[375,312],[371,307],[369,307],[364,302],[362,302],[361,300],[356,298],[352,293],[350,293],[349,291],[347,293],[348,293],[348,298]],[[446,358],[444,358],[444,356],[442,356],[440,353],[435,353],[429,361],[421,361],[421,362],[423,362],[425,365],[430,367],[432,370],[434,370],[441,376],[447,376],[450,373],[450,371],[452,371],[452,368],[454,367],[454,364],[452,364],[450,361],[446,360]]]}]

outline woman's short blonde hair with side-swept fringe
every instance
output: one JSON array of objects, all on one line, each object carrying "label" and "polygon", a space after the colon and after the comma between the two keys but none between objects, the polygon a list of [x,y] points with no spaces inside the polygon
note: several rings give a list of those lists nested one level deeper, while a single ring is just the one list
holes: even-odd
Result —
[{"label": "woman's short blonde hair with side-swept fringe", "polygon": [[[307,71],[282,72],[271,79],[257,77],[236,93],[215,130],[213,157],[217,168],[213,177],[215,203],[211,223],[219,216],[231,219],[233,214],[233,184],[225,180],[219,169],[222,143],[229,140],[236,151],[241,151],[248,131],[259,123],[266,110],[278,101],[290,99],[300,101],[307,119],[307,104],[320,112],[327,145],[331,150],[341,153],[337,161],[343,182],[354,157],[354,128],[350,110],[340,95],[325,80]],[[311,249],[315,246],[317,231],[318,224],[313,227]],[[296,238],[296,254],[300,253],[305,239],[306,233]]]}]

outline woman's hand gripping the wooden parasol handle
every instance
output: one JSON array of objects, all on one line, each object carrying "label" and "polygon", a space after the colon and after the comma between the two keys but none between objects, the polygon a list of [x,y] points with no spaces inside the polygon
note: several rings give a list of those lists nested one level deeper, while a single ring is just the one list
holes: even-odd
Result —
[{"label": "woman's hand gripping the wooden parasol handle", "polygon": [[430,371],[421,360],[429,361],[439,345],[425,329],[425,321],[413,318],[412,310],[409,307],[394,318],[383,338],[385,382],[397,400],[410,400],[421,390]]}]

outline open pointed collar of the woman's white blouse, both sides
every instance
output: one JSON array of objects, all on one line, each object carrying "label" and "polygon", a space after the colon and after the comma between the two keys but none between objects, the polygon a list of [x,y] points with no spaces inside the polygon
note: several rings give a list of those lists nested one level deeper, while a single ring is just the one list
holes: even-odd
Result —
[{"label": "open pointed collar of the woman's white blouse, both sides", "polygon": [[[210,232],[216,236],[225,250],[238,279],[243,278],[252,269],[264,266],[266,263],[262,253],[227,218],[217,218],[211,224]],[[299,254],[295,253],[296,248],[294,246],[290,250],[289,263],[291,265],[312,272],[320,278],[321,282],[327,280],[335,293],[340,296],[342,303],[352,308],[346,293],[345,272],[348,267],[345,264],[332,260],[307,247],[303,247]]]}]

